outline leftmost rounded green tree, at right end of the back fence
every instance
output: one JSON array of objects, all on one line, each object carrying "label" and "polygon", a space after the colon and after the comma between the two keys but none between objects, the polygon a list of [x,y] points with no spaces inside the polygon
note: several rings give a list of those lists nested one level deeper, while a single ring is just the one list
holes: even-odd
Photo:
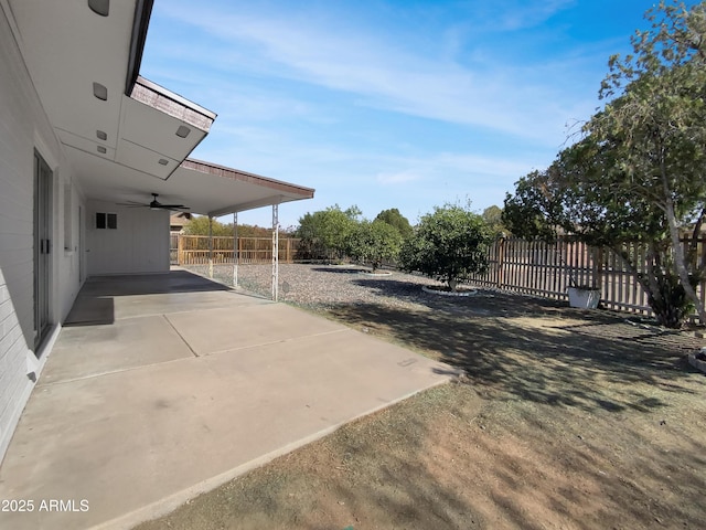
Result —
[{"label": "leftmost rounded green tree, at right end of the back fence", "polygon": [[353,205],[341,210],[338,204],[299,219],[297,237],[310,258],[335,258],[345,255],[350,234],[359,223],[361,211]]}]

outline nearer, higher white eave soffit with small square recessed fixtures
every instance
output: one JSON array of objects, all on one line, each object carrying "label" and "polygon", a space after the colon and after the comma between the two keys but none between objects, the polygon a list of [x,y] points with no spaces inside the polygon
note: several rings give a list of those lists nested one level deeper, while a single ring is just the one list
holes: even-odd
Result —
[{"label": "nearer, higher white eave soffit with small square recessed fixtures", "polygon": [[[141,77],[125,94],[136,3],[113,0],[108,17],[101,17],[87,0],[9,0],[44,110],[84,179],[90,177],[76,151],[165,179],[215,118]],[[95,84],[105,88],[105,100],[94,94]],[[184,138],[176,136],[182,126],[189,129]],[[169,163],[160,165],[163,159]]]}]

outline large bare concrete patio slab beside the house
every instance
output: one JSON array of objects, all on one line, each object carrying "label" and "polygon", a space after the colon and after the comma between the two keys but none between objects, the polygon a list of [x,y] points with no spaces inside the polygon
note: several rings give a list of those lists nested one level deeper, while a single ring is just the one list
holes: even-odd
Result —
[{"label": "large bare concrete patio slab beside the house", "polygon": [[131,528],[450,374],[184,271],[89,280],[0,467],[32,511],[0,528]]}]

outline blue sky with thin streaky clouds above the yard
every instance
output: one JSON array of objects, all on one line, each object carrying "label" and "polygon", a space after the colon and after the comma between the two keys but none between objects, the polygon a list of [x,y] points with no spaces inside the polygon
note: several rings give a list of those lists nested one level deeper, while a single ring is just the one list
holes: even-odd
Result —
[{"label": "blue sky with thin streaky clouds above the yard", "polygon": [[652,4],[157,0],[141,74],[218,114],[193,157],[315,188],[282,226],[334,203],[415,223],[549,165]]}]

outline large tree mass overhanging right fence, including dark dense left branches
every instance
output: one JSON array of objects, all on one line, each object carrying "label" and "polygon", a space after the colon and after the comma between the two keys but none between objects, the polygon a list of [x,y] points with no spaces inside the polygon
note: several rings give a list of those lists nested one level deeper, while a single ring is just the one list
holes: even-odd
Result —
[{"label": "large tree mass overhanging right fence, including dark dense left branches", "polygon": [[[514,233],[557,229],[611,247],[648,293],[659,321],[678,327],[696,307],[705,263],[696,240],[706,214],[706,3],[661,2],[633,55],[610,60],[601,97],[614,97],[582,128],[582,138],[544,172],[530,173],[505,200]],[[681,243],[691,231],[686,251]],[[643,266],[624,244],[646,248]]]}]

